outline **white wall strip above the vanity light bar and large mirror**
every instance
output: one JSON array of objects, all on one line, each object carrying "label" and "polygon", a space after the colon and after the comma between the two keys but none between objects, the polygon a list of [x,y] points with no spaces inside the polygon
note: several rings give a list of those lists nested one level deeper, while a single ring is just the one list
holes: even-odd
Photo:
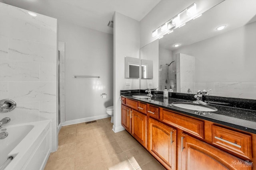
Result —
[{"label": "white wall strip above the vanity light bar and large mirror", "polygon": [[155,8],[140,21],[140,47],[144,47],[158,39],[159,37],[152,37],[152,31],[182,12],[182,10],[186,9],[194,2],[197,5],[198,14],[201,14],[222,1],[223,0],[161,0]]}]

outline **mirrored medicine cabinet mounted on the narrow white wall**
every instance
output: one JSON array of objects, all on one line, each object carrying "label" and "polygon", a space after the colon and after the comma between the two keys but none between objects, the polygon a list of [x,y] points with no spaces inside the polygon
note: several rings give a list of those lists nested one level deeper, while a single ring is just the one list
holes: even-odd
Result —
[{"label": "mirrored medicine cabinet mounted on the narrow white wall", "polygon": [[134,57],[125,57],[125,78],[139,78],[140,59]]}]

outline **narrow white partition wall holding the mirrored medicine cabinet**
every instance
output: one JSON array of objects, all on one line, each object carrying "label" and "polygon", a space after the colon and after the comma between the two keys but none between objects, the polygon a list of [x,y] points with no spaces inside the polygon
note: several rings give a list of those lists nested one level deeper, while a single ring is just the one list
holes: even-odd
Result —
[{"label": "narrow white partition wall holding the mirrored medicine cabinet", "polygon": [[[124,57],[140,58],[139,22],[118,12],[114,14],[114,127],[122,131],[120,90],[139,89],[139,79],[124,78]],[[130,86],[125,83],[130,82]]]}]

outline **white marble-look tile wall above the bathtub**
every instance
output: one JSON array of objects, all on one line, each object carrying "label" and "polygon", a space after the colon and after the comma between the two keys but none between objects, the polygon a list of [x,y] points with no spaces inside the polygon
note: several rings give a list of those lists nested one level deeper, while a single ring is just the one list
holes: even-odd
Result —
[{"label": "white marble-look tile wall above the bathtub", "polygon": [[16,109],[1,113],[8,125],[52,120],[52,151],[56,150],[57,20],[0,3],[0,100]]}]

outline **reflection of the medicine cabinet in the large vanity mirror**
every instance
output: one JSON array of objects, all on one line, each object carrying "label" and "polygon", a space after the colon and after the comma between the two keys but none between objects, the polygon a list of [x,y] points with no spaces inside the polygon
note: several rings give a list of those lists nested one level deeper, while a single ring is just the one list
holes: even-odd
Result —
[{"label": "reflection of the medicine cabinet in the large vanity mirror", "polygon": [[152,79],[153,78],[153,61],[152,60],[141,60],[141,78]]}]

